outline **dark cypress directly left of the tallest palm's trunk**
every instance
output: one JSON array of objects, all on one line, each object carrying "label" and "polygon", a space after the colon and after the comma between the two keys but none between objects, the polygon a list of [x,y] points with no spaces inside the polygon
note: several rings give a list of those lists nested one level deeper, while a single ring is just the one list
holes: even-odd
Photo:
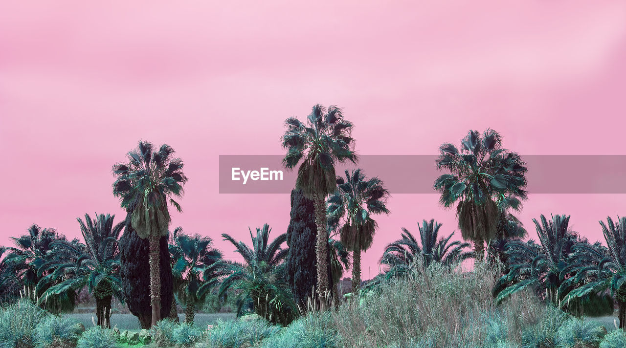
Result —
[{"label": "dark cypress directly left of the tallest palm's trunk", "polygon": [[317,227],[313,200],[304,197],[302,190],[291,191],[291,220],[287,227],[287,282],[295,303],[304,306],[316,285],[315,243]]}]

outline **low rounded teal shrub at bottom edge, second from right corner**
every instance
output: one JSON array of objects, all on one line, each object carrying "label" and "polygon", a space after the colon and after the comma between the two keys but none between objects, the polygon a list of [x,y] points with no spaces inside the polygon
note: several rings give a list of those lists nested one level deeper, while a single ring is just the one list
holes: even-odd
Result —
[{"label": "low rounded teal shrub at bottom edge, second from right corner", "polygon": [[570,318],[557,331],[557,348],[598,347],[602,334],[600,324],[584,319]]}]

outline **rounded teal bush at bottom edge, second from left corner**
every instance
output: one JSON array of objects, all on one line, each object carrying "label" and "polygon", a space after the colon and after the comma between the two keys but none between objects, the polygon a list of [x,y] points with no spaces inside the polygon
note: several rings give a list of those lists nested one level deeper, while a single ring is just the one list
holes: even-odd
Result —
[{"label": "rounded teal bush at bottom edge, second from left corner", "polygon": [[35,327],[37,348],[74,347],[78,340],[78,322],[57,315],[48,315]]}]

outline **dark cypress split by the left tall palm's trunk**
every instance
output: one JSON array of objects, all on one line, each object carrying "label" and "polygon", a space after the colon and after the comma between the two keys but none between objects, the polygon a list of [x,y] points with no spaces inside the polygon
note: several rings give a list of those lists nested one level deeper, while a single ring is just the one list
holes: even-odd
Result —
[{"label": "dark cypress split by the left tall palm's trunk", "polygon": [[[131,225],[131,213],[135,205],[126,209],[124,233],[120,238],[121,254],[120,277],[124,300],[130,312],[138,317],[143,329],[150,329],[152,307],[150,304],[150,265],[148,264],[148,239],[142,239]],[[172,306],[173,285],[168,236],[160,238],[160,270],[161,270],[161,317],[170,314]]]}]

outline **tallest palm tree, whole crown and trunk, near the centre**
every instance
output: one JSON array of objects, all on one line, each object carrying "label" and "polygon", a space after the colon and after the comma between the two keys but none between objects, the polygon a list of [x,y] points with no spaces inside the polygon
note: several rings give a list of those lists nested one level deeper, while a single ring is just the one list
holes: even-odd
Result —
[{"label": "tallest palm tree, whole crown and trunk, near the centre", "polygon": [[[281,138],[287,154],[282,160],[287,169],[298,163],[298,176],[295,188],[302,190],[305,197],[314,201],[317,231],[326,228],[326,197],[334,193],[336,187],[335,164],[352,161],[356,163],[352,139],[352,123],[344,119],[341,108],[322,105],[313,106],[302,123],[297,118],[287,118],[287,130]],[[327,305],[329,296],[329,255],[328,240],[324,233],[316,236],[317,255],[317,294],[322,308]]]}]

